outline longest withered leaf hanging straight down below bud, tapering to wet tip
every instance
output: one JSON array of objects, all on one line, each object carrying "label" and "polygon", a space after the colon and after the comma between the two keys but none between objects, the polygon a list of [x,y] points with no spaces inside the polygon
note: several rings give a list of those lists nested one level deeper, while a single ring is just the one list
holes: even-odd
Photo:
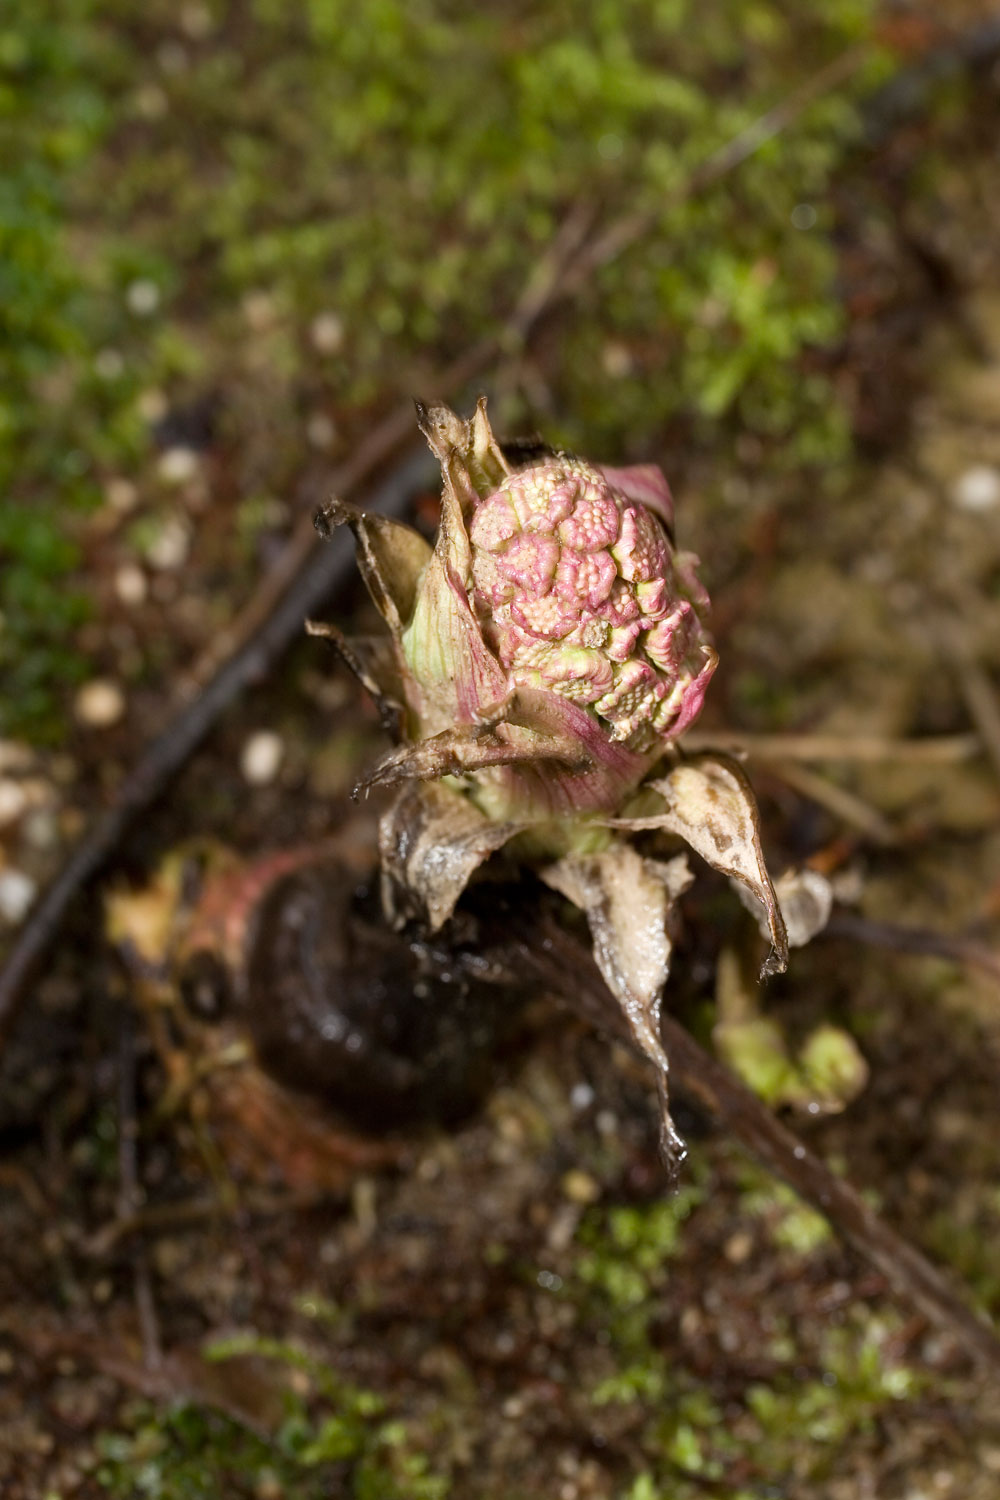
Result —
[{"label": "longest withered leaf hanging straight down below bud, tapering to wet tip", "polygon": [[687,858],[645,860],[621,843],[601,854],[567,855],[540,874],[586,914],[597,966],[657,1070],[663,1155],[676,1168],[684,1160],[684,1142],[670,1118],[660,999],[670,972],[670,908],[691,884]]}]

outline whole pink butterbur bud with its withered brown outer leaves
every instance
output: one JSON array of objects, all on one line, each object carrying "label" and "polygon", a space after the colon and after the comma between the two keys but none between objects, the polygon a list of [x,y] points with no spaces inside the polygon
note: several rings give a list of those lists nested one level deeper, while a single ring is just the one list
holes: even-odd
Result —
[{"label": "whole pink butterbur bud with its withered brown outer leaves", "polygon": [[363,783],[402,788],[379,836],[390,916],[438,927],[502,844],[531,860],[588,914],[601,972],[660,1070],[676,1158],[658,1005],[667,916],[690,876],[684,856],[640,856],[624,834],[684,837],[760,902],[772,968],[786,951],[745,777],[675,748],[717,664],[697,558],[675,549],[655,465],[555,454],[513,466],[484,400],[468,422],[444,405],[418,405],[417,418],[444,480],[433,548],[336,500],[316,518],[324,532],[351,525],[388,640],[310,627],[402,741]]}]

